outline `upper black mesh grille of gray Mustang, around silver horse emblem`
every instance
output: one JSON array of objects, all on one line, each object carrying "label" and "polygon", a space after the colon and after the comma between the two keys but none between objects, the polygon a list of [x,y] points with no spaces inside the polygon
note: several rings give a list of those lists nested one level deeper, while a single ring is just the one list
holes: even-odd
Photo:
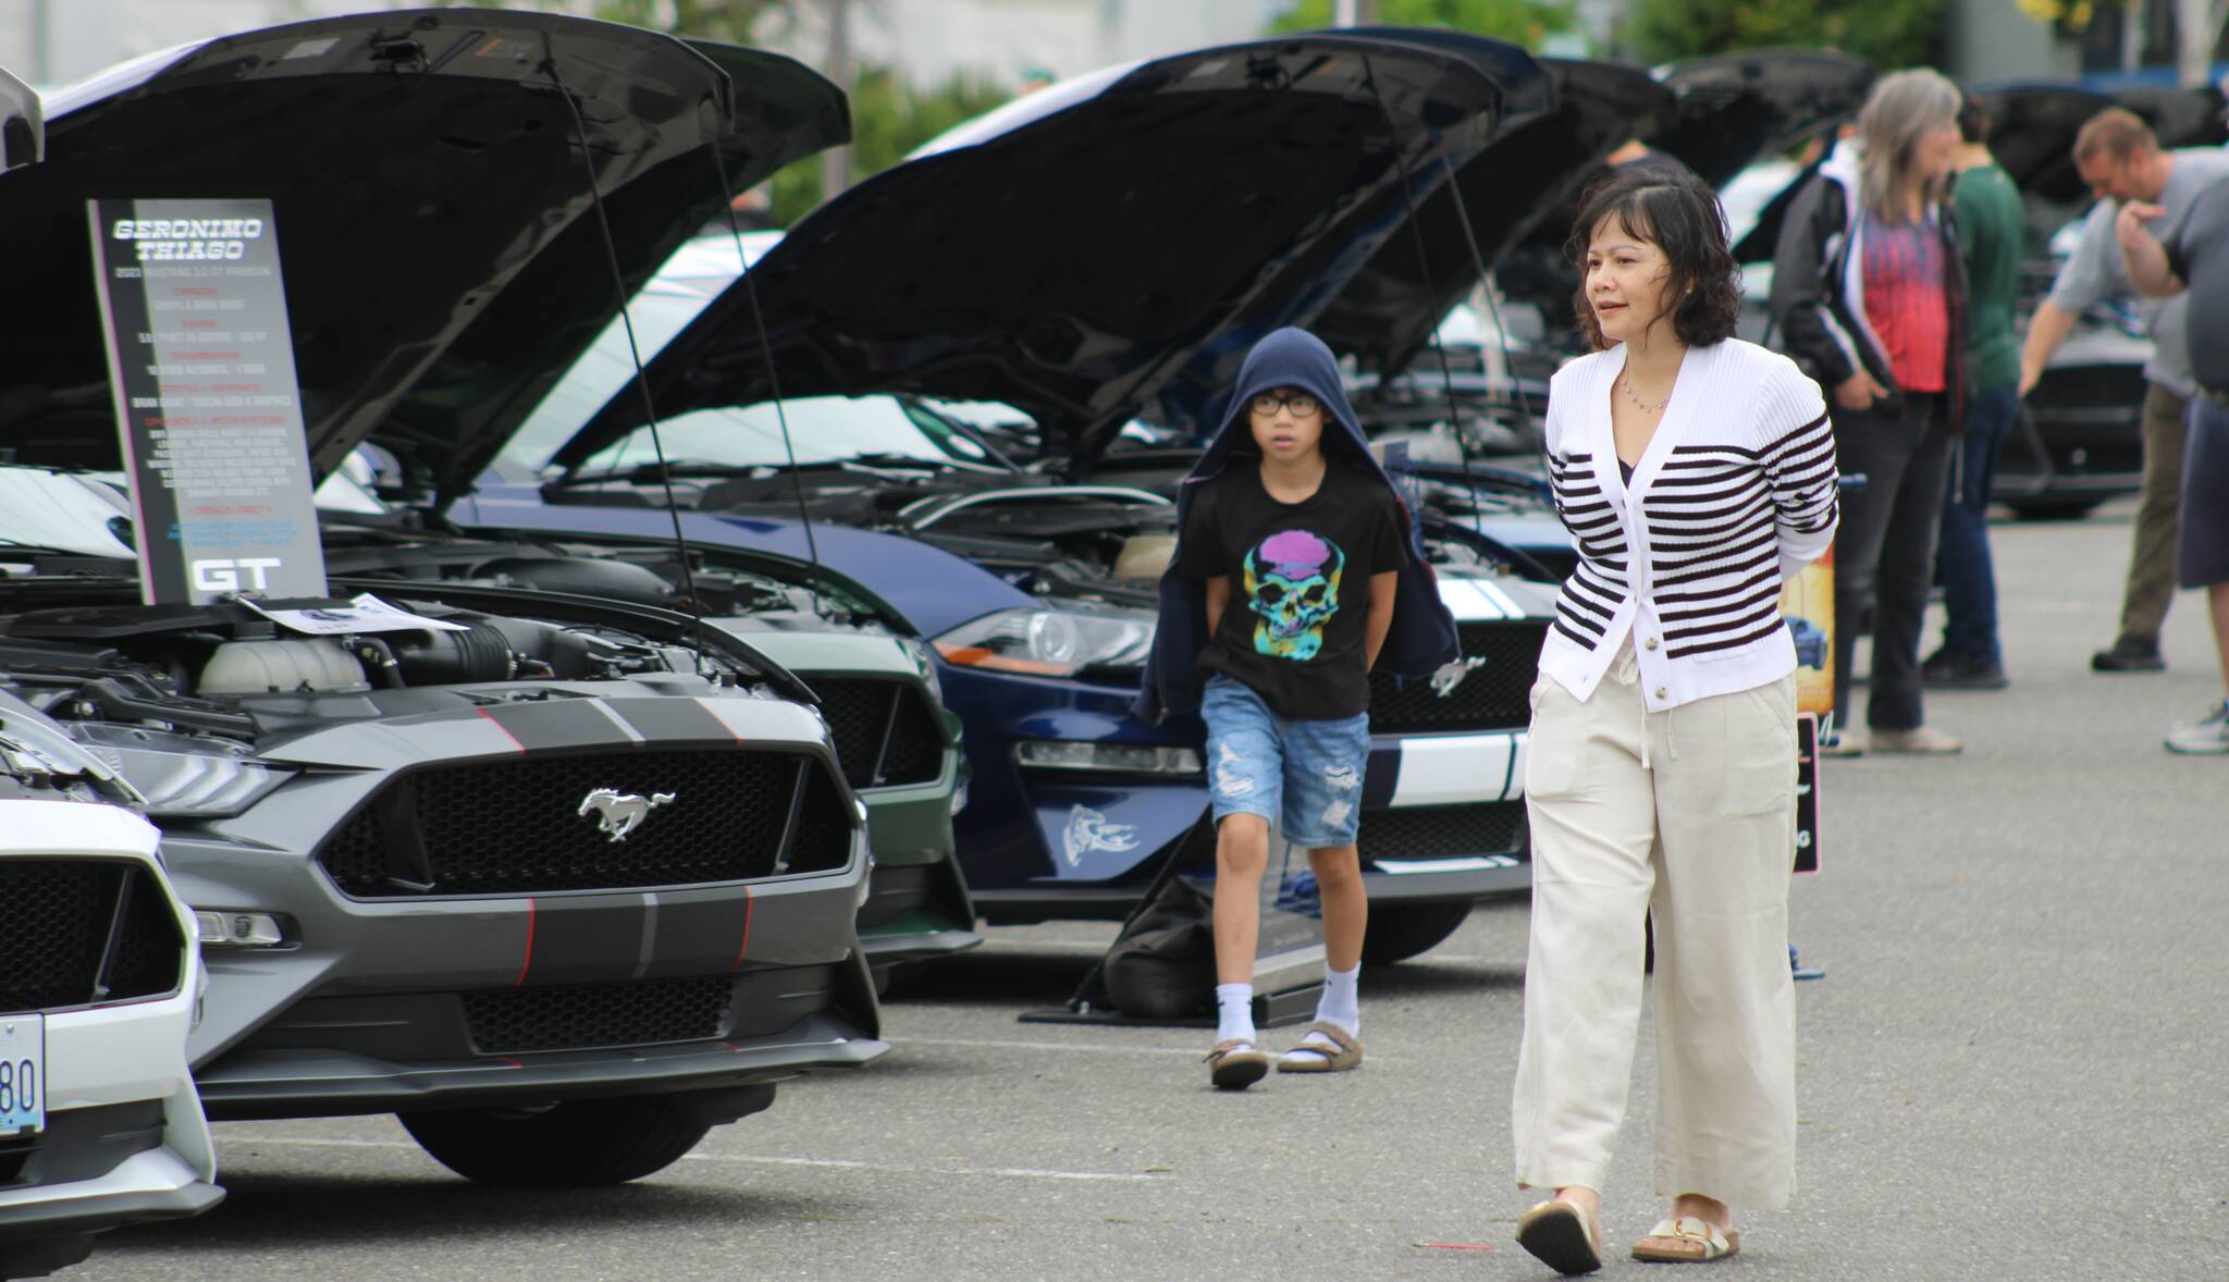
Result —
[{"label": "upper black mesh grille of gray Mustang, around silver horse emblem", "polygon": [[[602,789],[620,800],[593,809]],[[658,805],[611,841],[602,823],[642,800]],[[317,858],[357,899],[629,890],[840,867],[849,832],[843,791],[811,758],[637,749],[401,774]]]}]

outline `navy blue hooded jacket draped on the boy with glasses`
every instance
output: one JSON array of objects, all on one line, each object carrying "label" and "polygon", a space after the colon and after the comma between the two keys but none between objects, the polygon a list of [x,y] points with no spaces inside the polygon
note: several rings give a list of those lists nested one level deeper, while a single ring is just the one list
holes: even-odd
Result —
[{"label": "navy blue hooded jacket draped on the boy with glasses", "polygon": [[[1333,464],[1346,462],[1371,470],[1393,502],[1400,504],[1402,526],[1409,531],[1409,566],[1400,571],[1393,595],[1393,627],[1386,629],[1384,649],[1378,653],[1378,669],[1404,678],[1422,678],[1442,664],[1456,662],[1462,647],[1456,640],[1456,618],[1440,604],[1440,584],[1424,560],[1424,540],[1411,519],[1409,504],[1402,502],[1393,477],[1371,457],[1369,439],[1355,419],[1355,408],[1346,404],[1346,388],[1340,386],[1340,363],[1331,348],[1306,330],[1277,330],[1255,343],[1239,368],[1239,381],[1230,388],[1230,404],[1224,410],[1224,426],[1215,430],[1199,464],[1184,477],[1177,491],[1177,537],[1190,522],[1193,497],[1199,486],[1221,475],[1230,466],[1237,446],[1253,448],[1253,424],[1246,404],[1255,392],[1271,388],[1302,388],[1320,406],[1331,410],[1342,430],[1324,430],[1324,457]],[[1257,457],[1237,459],[1239,466],[1259,466]],[[1181,555],[1181,548],[1179,548]],[[1175,564],[1175,560],[1170,560]],[[1137,693],[1137,713],[1159,722],[1168,716],[1199,711],[1199,691],[1206,680],[1199,676],[1199,649],[1208,640],[1208,589],[1204,580],[1168,571],[1161,575],[1161,624],[1152,633],[1152,655],[1146,660],[1146,682]]]}]

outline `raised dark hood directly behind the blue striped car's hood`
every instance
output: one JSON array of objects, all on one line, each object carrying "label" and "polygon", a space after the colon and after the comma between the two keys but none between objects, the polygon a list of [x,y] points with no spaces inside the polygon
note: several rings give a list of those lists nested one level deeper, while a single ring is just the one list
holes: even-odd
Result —
[{"label": "raised dark hood directly behind the blue striped car's hood", "polygon": [[[1654,140],[1672,125],[1672,91],[1647,71],[1616,62],[1545,58],[1554,105],[1502,132],[1389,239],[1366,268],[1313,321],[1315,334],[1364,368],[1391,377],[1406,368],[1433,328],[1473,285],[1478,256],[1491,272],[1509,250],[1549,234],[1560,252],[1558,216],[1576,207],[1603,156],[1629,140]],[[1460,201],[1458,201],[1460,196]],[[1460,214],[1469,214],[1469,236]]]}]

